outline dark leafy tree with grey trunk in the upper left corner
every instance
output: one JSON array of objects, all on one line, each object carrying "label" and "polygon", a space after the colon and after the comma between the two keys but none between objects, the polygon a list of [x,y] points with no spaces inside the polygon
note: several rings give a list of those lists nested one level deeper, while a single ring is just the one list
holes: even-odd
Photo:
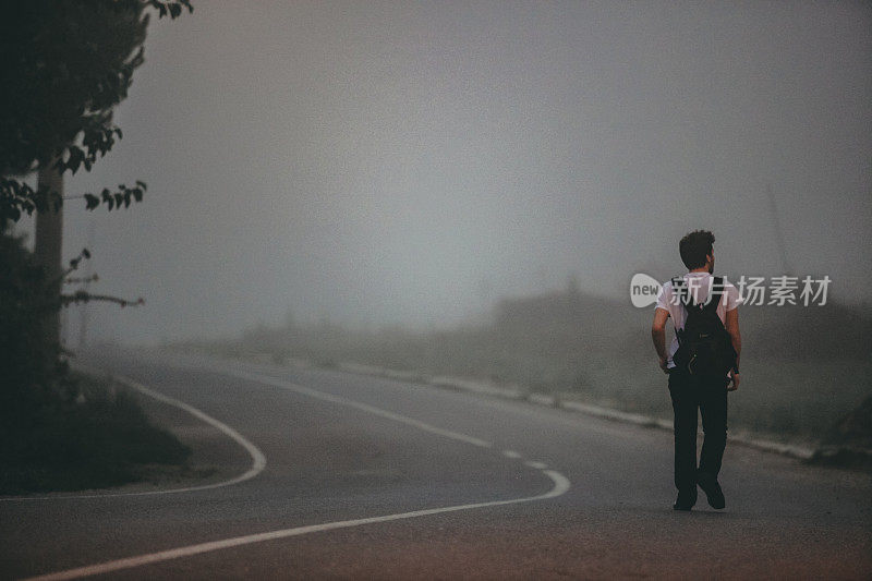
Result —
[{"label": "dark leafy tree with grey trunk in the upper left corner", "polygon": [[[178,17],[190,0],[27,0],[0,21],[0,223],[37,214],[35,255],[60,302],[63,173],[90,171],[122,137],[112,109],[144,61],[149,12]],[[150,10],[149,10],[150,9]],[[38,171],[36,190],[21,177]],[[84,193],[87,209],[140,202],[145,183]],[[73,196],[71,196],[73,197]],[[58,342],[58,316],[44,320]]]}]

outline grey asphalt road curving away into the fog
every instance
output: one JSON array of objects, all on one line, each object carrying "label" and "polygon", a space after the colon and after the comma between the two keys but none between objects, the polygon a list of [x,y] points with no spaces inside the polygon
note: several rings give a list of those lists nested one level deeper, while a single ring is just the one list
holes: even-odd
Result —
[{"label": "grey asphalt road curving away into the fog", "polygon": [[0,499],[2,578],[107,562],[88,572],[872,577],[868,475],[728,446],[727,509],[708,509],[701,495],[698,509],[674,512],[664,431],[322,370],[157,354],[99,364],[222,424],[213,457],[227,460],[229,477],[250,471],[246,480],[169,494]]}]

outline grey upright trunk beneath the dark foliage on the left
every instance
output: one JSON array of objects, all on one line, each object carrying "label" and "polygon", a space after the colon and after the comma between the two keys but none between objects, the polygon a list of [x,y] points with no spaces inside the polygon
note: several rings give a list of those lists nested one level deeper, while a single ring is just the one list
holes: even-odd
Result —
[{"label": "grey upright trunk beneath the dark foliage on the left", "polygon": [[[47,164],[46,167],[39,168],[37,186],[39,189],[48,189],[50,192],[56,192],[59,196],[63,196],[63,175],[52,167],[51,162]],[[60,277],[63,271],[61,269],[63,208],[58,208],[55,211],[53,203],[49,205],[52,207],[36,215],[34,256],[46,274],[46,281],[49,283],[46,292],[49,293],[52,302],[57,301],[60,304]],[[43,317],[40,325],[46,344],[60,347],[60,308],[52,308]]]}]

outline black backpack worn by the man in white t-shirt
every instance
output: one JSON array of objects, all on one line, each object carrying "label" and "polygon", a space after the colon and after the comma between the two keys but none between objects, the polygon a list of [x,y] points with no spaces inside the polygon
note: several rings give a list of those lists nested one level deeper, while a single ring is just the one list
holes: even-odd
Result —
[{"label": "black backpack worn by the man in white t-shirt", "polygon": [[678,351],[673,361],[690,375],[725,377],[736,364],[736,350],[717,316],[717,305],[724,295],[724,279],[715,277],[704,304],[697,304],[682,278],[673,279],[673,290],[687,310],[685,328],[676,330]]}]

